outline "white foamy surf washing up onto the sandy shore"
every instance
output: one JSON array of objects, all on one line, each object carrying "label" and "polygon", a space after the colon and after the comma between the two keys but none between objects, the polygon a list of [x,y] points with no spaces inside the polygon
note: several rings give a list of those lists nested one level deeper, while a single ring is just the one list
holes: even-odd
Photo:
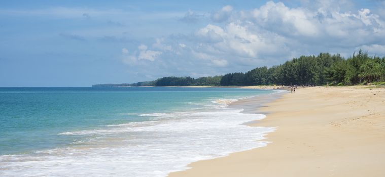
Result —
[{"label": "white foamy surf washing up onto the sandy shore", "polygon": [[[153,121],[107,125],[101,129],[66,131],[79,140],[62,148],[0,156],[1,176],[166,176],[187,164],[266,146],[261,141],[273,127],[244,122],[263,114],[245,114],[213,101],[202,109],[141,114]],[[215,107],[215,105],[217,105]],[[220,108],[220,109],[216,109]]]}]

